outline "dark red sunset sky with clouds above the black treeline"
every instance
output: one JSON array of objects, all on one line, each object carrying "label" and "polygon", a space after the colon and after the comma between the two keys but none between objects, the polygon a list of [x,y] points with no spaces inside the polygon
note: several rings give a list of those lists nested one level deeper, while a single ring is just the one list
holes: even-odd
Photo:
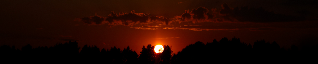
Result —
[{"label": "dark red sunset sky with clouds above the black treeline", "polygon": [[100,49],[170,45],[227,37],[281,48],[318,44],[316,0],[1,0],[0,45],[54,46],[69,40]]}]

